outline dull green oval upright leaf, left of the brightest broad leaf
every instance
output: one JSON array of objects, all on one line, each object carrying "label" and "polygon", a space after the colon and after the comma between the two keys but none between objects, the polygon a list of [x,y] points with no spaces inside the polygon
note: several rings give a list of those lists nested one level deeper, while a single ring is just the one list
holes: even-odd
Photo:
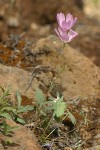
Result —
[{"label": "dull green oval upright leaf, left of the brightest broad leaf", "polygon": [[37,89],[36,93],[35,93],[35,98],[37,99],[37,102],[39,105],[43,104],[44,101],[46,101],[45,96],[42,92],[42,90]]}]

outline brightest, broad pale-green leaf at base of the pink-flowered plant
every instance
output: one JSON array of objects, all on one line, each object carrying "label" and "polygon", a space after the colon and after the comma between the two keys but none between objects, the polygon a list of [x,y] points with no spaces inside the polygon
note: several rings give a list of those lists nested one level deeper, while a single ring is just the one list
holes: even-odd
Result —
[{"label": "brightest, broad pale-green leaf at base of the pink-flowered plant", "polygon": [[61,117],[64,114],[66,104],[65,102],[57,101],[55,102],[54,106],[54,116]]}]

